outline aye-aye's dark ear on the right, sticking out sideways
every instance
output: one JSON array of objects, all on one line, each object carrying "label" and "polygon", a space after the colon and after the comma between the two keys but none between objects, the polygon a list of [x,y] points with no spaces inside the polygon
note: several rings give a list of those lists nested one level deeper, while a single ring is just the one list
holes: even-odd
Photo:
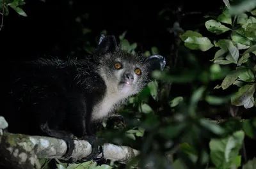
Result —
[{"label": "aye-aye's dark ear on the right, sticking out sideways", "polygon": [[163,70],[166,64],[165,58],[162,55],[150,55],[144,62],[147,64],[148,70]]}]

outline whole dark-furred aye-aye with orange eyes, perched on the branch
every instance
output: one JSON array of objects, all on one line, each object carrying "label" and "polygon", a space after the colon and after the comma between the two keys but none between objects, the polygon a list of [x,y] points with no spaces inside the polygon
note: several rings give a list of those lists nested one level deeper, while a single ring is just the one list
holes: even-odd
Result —
[{"label": "whole dark-furred aye-aye with orange eyes, perched on the branch", "polygon": [[[92,160],[99,155],[93,122],[140,92],[150,73],[164,66],[161,55],[146,58],[122,50],[115,36],[101,36],[95,52],[84,59],[3,64],[0,115],[9,132],[65,140],[65,158],[72,155],[72,138],[88,140],[92,153],[81,161]],[[7,71],[10,75],[3,77]]]}]

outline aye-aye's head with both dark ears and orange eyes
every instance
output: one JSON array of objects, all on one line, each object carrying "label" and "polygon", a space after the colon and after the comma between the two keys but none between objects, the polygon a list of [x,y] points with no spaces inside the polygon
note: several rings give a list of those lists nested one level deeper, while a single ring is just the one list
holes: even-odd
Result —
[{"label": "aye-aye's head with both dark ears and orange eyes", "polygon": [[161,55],[146,58],[131,54],[116,45],[115,36],[101,36],[95,50],[99,60],[99,73],[107,88],[120,96],[136,94],[151,80],[153,70],[163,70],[165,59]]}]

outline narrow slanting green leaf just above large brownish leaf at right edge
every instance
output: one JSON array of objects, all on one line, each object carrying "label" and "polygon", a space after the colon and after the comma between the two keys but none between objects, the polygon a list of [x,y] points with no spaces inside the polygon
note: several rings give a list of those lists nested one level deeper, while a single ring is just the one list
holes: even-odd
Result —
[{"label": "narrow slanting green leaf just above large brownish leaf at right edge", "polygon": [[221,83],[221,87],[223,90],[227,89],[230,85],[234,84],[234,82],[236,81],[236,79],[238,78],[238,76],[243,73],[244,69],[239,69],[239,70],[235,70],[235,71],[231,71],[230,73],[228,73],[228,75],[223,79],[222,83]]}]

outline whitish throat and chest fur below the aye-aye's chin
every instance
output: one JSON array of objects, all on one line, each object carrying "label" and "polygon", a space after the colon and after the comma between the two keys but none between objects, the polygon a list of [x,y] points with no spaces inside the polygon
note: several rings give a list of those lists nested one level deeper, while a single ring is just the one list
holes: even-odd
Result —
[{"label": "whitish throat and chest fur below the aye-aye's chin", "polygon": [[104,98],[98,101],[92,109],[92,121],[108,117],[108,114],[116,108],[120,101],[122,101],[120,95],[106,92]]}]

